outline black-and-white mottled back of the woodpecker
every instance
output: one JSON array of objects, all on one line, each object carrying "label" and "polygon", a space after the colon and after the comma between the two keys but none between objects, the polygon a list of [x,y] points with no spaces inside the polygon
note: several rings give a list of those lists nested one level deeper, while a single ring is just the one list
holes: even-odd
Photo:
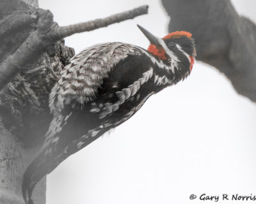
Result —
[{"label": "black-and-white mottled back of the woodpecker", "polygon": [[49,96],[49,107],[54,118],[45,135],[42,150],[65,126],[72,109],[83,108],[84,104],[97,98],[104,79],[109,77],[118,62],[141,54],[145,54],[145,50],[134,45],[104,43],[86,48],[74,56],[61,71],[60,80]]}]

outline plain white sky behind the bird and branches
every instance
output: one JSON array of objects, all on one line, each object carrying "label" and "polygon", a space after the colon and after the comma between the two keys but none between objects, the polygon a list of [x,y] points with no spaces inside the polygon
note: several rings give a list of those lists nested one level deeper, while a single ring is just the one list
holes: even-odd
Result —
[{"label": "plain white sky behind the bird and branches", "polygon": [[[255,0],[233,2],[256,22]],[[150,6],[148,15],[66,38],[76,53],[106,41],[147,48],[136,24],[159,37],[168,33],[168,17],[156,0],[39,3],[60,25]],[[216,69],[196,62],[187,80],[152,96],[134,117],[52,171],[47,203],[200,203],[189,195],[250,196],[256,192],[255,121],[255,104],[238,96]]]}]

